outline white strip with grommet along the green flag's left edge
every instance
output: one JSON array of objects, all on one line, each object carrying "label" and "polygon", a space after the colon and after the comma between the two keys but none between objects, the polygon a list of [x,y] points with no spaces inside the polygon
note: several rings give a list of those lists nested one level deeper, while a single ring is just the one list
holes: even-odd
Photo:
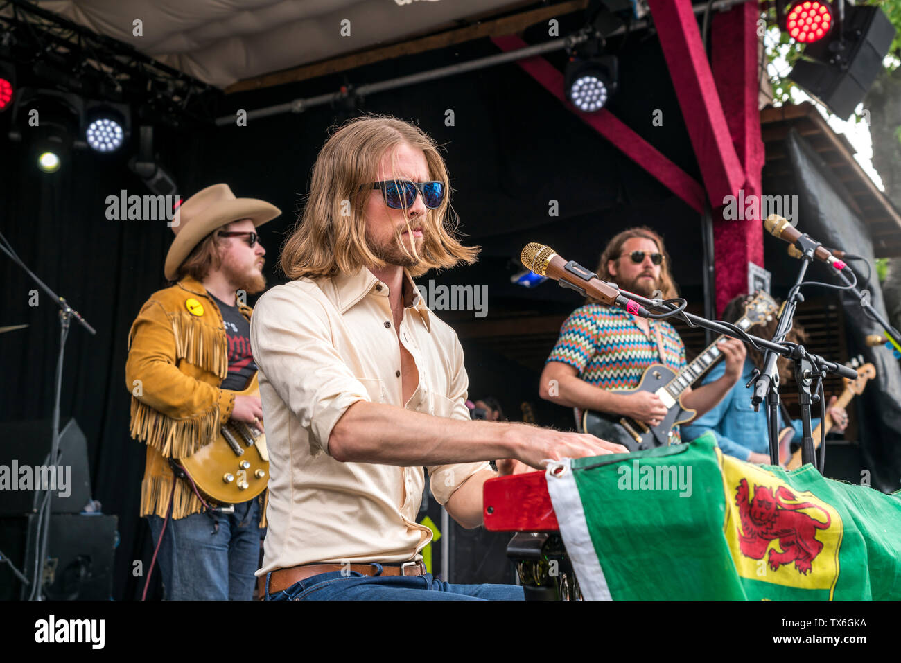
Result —
[{"label": "white strip with grommet along the green flag's left edge", "polygon": [[[560,474],[552,473],[554,468],[560,467],[563,468],[559,470]],[[557,522],[560,523],[560,536],[563,537],[572,568],[576,570],[582,595],[589,601],[610,601],[612,597],[604,569],[601,568],[595,544],[588,534],[585,511],[572,473],[572,461],[563,459],[559,463],[549,463],[545,476],[548,478],[551,504],[557,515]]]}]

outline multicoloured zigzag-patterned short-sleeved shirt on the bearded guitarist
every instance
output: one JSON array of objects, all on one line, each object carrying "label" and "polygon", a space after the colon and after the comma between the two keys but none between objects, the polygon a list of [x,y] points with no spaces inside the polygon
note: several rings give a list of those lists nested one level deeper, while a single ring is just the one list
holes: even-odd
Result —
[{"label": "multicoloured zigzag-patterned short-sleeved shirt on the bearded guitarist", "polygon": [[[570,313],[560,327],[560,338],[547,361],[560,361],[578,370],[578,377],[602,389],[633,389],[651,364],[674,370],[686,366],[685,344],[669,322],[649,320],[648,337],[622,309],[586,304]],[[663,341],[663,357],[657,348],[657,332]],[[582,410],[575,409],[576,421]],[[579,424],[580,425],[580,424]],[[677,440],[678,426],[675,429]]]}]

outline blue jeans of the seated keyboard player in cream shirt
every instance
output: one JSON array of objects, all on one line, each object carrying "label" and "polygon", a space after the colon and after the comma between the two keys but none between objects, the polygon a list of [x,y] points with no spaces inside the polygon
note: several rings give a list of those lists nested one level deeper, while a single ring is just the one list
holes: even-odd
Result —
[{"label": "blue jeans of the seated keyboard player in cream shirt", "polygon": [[[375,566],[380,568],[380,565]],[[287,589],[269,594],[267,601],[522,601],[523,588],[515,585],[448,585],[431,573],[423,576],[363,576],[355,571],[350,576],[341,571],[321,573],[295,583]]]}]

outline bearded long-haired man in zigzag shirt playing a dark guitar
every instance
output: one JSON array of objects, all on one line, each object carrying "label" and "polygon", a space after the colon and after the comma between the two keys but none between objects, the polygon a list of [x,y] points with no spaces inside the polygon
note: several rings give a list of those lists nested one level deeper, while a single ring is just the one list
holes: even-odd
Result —
[{"label": "bearded long-haired man in zigzag shirt playing a dark guitar", "polygon": [[[669,273],[663,238],[650,228],[630,228],[607,243],[597,276],[645,297],[677,296]],[[696,416],[719,403],[742,375],[742,341],[721,341],[725,372],[715,382],[682,395],[685,408]],[[644,371],[660,363],[679,371],[686,366],[685,345],[669,322],[641,318],[588,299],[560,327],[560,338],[542,371],[539,393],[553,403],[574,408],[580,424],[585,410],[627,416],[651,427],[667,414],[653,392],[615,393],[639,385]],[[671,441],[680,441],[678,426]]]}]

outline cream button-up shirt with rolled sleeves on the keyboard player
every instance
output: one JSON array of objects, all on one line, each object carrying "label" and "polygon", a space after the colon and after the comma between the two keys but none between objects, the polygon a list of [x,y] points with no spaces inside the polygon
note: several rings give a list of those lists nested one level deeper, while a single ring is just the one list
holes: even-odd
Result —
[{"label": "cream button-up shirt with rolled sleeves on the keyboard player", "polygon": [[[469,380],[457,334],[423,303],[405,272],[400,342],[419,386],[402,402],[398,334],[388,288],[369,269],[275,286],[259,298],[250,344],[269,451],[268,531],[262,576],[312,562],[419,559],[432,531],[415,522],[423,468],[341,463],[329,435],[358,401],[469,420]],[[426,440],[423,440],[423,442]],[[486,462],[428,468],[445,504]]]}]

